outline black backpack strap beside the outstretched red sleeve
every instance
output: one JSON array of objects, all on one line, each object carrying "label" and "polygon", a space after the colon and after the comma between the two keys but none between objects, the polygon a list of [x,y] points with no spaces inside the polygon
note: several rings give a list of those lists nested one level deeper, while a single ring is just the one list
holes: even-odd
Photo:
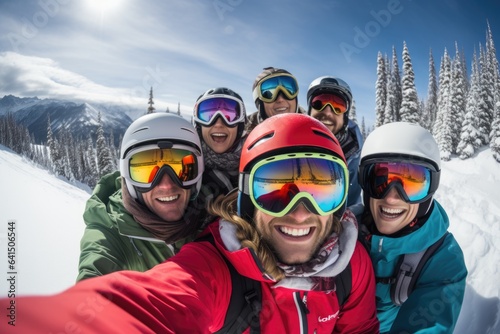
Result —
[{"label": "black backpack strap beside the outstretched red sleeve", "polygon": [[[195,241],[208,241],[215,246],[211,234],[204,235]],[[217,247],[215,246],[217,249]],[[231,274],[231,299],[227,308],[224,325],[215,333],[243,333],[250,327],[251,334],[260,333],[260,311],[262,309],[262,287],[259,281],[243,276],[226,259],[227,269]]]}]

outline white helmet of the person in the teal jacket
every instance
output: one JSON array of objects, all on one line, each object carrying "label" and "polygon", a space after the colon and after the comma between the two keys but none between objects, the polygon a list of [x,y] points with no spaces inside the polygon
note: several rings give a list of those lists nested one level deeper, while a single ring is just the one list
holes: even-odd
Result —
[{"label": "white helmet of the person in the teal jacket", "polygon": [[[436,173],[432,180],[429,196],[420,203],[417,217],[427,213],[432,204],[432,196],[439,186],[441,176],[441,157],[439,147],[432,134],[418,124],[394,122],[376,128],[366,138],[360,157],[358,181],[364,187],[362,169],[373,159],[395,159],[398,161],[422,161],[434,167]],[[368,205],[365,198],[365,205]]]}]

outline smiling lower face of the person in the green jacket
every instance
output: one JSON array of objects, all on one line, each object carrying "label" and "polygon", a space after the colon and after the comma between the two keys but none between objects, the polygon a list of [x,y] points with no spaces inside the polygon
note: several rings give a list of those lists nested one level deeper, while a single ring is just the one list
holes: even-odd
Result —
[{"label": "smiling lower face of the person in the green jacket", "polygon": [[164,174],[160,183],[142,194],[146,206],[165,221],[177,221],[186,211],[190,189],[179,187],[170,176]]}]

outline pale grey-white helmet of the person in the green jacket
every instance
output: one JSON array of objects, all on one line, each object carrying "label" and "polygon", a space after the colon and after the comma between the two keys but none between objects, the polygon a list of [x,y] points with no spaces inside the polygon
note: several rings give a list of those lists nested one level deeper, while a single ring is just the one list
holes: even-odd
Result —
[{"label": "pale grey-white helmet of the person in the green jacket", "polygon": [[[181,182],[178,178],[173,178],[179,186],[191,188],[191,199],[196,198],[201,188],[204,171],[204,161],[201,150],[200,138],[193,125],[182,116],[169,113],[152,113],[136,119],[123,135],[120,148],[120,174],[125,179],[125,184],[134,199],[142,201],[140,193],[149,191],[159,182],[159,177],[163,173],[158,173],[155,180],[148,188],[134,182],[130,178],[127,154],[131,150],[144,147],[144,150],[151,148],[164,148],[166,146],[181,145],[194,153],[197,158],[197,174],[195,179],[189,182]],[[175,146],[174,146],[175,147]],[[142,187],[141,187],[142,186]]]}]

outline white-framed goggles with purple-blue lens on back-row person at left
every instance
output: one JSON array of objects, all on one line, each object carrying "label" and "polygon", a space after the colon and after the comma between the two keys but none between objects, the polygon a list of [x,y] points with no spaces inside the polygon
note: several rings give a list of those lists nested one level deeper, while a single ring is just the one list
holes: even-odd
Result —
[{"label": "white-framed goggles with purple-blue lens on back-row person at left", "polygon": [[234,126],[245,120],[245,107],[236,98],[210,97],[200,99],[195,106],[195,121],[205,126],[215,123],[217,116],[228,126]]}]

